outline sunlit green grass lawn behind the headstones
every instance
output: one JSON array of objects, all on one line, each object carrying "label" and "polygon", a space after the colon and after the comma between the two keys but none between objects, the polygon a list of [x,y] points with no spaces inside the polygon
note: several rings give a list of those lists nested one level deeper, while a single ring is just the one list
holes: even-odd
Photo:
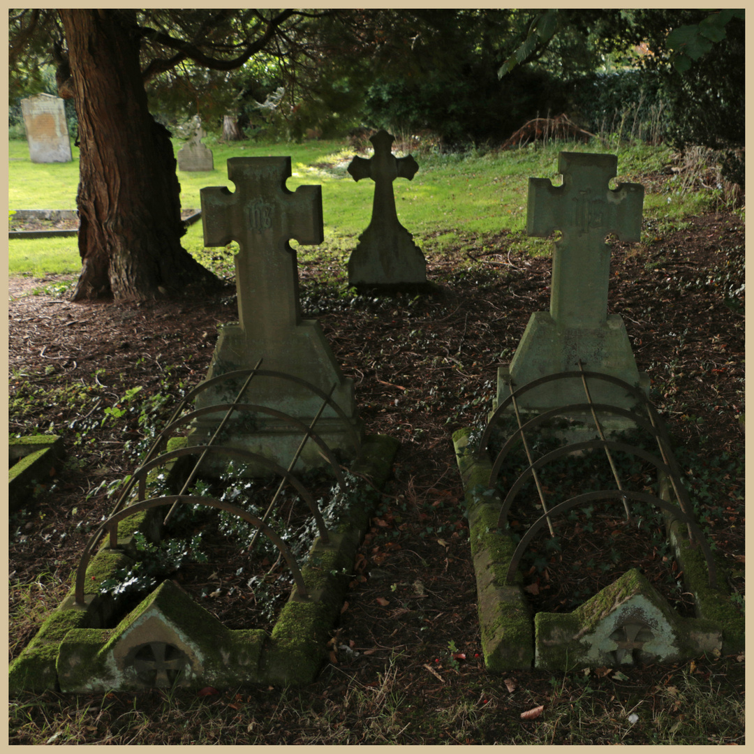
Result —
[{"label": "sunlit green grass lawn behind the headstones", "polygon": [[[355,182],[346,172],[356,154],[345,141],[326,140],[294,143],[205,143],[213,150],[215,169],[206,173],[178,171],[181,204],[200,208],[199,192],[205,186],[234,185],[228,180],[227,161],[231,157],[290,156],[292,176],[287,187],[322,186],[325,241],[320,253],[348,258],[358,235],[369,224],[374,184],[365,179]],[[177,153],[182,142],[174,139]],[[559,182],[557,155],[563,149],[580,152],[618,154],[620,181],[636,181],[657,172],[670,160],[665,147],[620,146],[610,149],[602,141],[587,145],[550,143],[528,146],[510,152],[484,154],[438,153],[415,155],[419,169],[411,181],[396,179],[394,194],[400,222],[414,234],[415,241],[428,259],[446,256],[464,247],[474,237],[479,247],[490,244],[501,233],[516,250],[532,254],[549,253],[550,241],[526,236],[526,196],[529,176]],[[395,150],[398,156],[402,153]],[[75,209],[78,187],[78,149],[73,161],[34,164],[29,160],[26,142],[9,143],[8,209]],[[685,216],[699,213],[710,205],[709,193],[685,192],[652,194],[644,203],[645,220],[673,224]],[[204,249],[201,223],[193,225],[183,239],[184,247],[201,257]],[[9,246],[11,274],[75,274],[81,268],[75,238],[15,240]],[[302,253],[306,253],[303,250]],[[206,255],[205,255],[206,256]]]}]

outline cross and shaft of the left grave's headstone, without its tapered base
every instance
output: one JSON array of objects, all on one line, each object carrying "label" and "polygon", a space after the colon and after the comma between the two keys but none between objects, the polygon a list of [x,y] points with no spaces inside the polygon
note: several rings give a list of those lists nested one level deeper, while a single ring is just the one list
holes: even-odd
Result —
[{"label": "cross and shaft of the left grave's headstone, without its tapered base", "polygon": [[321,244],[321,186],[286,189],[289,157],[233,157],[228,178],[236,185],[201,189],[204,243],[237,241],[238,317],[247,336],[275,342],[301,320],[299,273],[291,238]]}]

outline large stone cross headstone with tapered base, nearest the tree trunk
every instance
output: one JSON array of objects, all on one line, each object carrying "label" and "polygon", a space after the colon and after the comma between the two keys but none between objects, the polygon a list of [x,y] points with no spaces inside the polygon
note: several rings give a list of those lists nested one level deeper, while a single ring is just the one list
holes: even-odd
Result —
[{"label": "large stone cross headstone with tapered base, nearest the tree trunk", "polygon": [[[286,189],[290,158],[231,158],[228,177],[236,185],[201,189],[204,243],[225,246],[238,241],[235,258],[239,322],[222,326],[210,364],[208,379],[235,369],[252,369],[263,358],[261,369],[286,372],[304,379],[326,394],[348,416],[351,429],[360,432],[354,388],[345,379],[316,320],[304,320],[299,308],[296,252],[288,241],[320,244],[323,241],[320,186]],[[223,385],[198,396],[197,407],[230,403],[234,388]],[[288,381],[255,377],[244,394],[244,403],[257,403],[311,421],[322,400],[306,388]],[[216,415],[212,415],[216,420]],[[302,433],[282,420],[258,415],[256,428],[232,428],[223,444],[249,449],[287,467]],[[201,429],[199,425],[198,429]],[[208,428],[205,427],[205,430]],[[330,406],[315,428],[331,449],[354,451],[351,434]],[[311,452],[308,447],[311,446]],[[301,466],[318,465],[321,458],[309,443]]]}]

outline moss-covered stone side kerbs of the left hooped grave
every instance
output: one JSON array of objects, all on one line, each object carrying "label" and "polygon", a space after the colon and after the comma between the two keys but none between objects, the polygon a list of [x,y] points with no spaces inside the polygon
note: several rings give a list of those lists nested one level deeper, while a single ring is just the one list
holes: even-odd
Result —
[{"label": "moss-covered stone side kerbs of the left hooped grave", "polygon": [[[302,569],[307,587],[312,593],[320,596],[320,599],[311,600],[309,603],[291,599],[284,606],[285,619],[277,621],[271,635],[262,631],[265,634],[263,641],[259,635],[261,630],[228,630],[229,641],[234,651],[244,656],[248,654],[248,642],[251,641],[255,645],[262,642],[258,659],[255,661],[256,670],[244,663],[244,677],[231,679],[231,684],[251,682],[302,685],[311,682],[319,672],[326,659],[326,642],[321,639],[325,638],[326,633],[333,627],[333,621],[339,614],[348,586],[348,578],[339,571],[343,568],[348,571],[353,566],[356,550],[379,499],[379,490],[385,486],[390,476],[394,455],[399,446],[398,440],[385,435],[372,435],[366,438],[362,455],[351,470],[370,477],[375,489],[369,490],[363,507],[349,510],[349,520],[339,526],[339,533],[331,535],[333,544],[325,546],[318,540],[314,542],[311,553],[314,553],[315,558],[319,556],[320,562],[308,563]],[[135,531],[143,526],[143,516],[137,514],[121,521],[118,526],[119,538],[127,538],[129,532],[123,528],[127,522],[130,522],[128,528]],[[131,535],[133,531],[130,532]],[[74,605],[74,591],[71,590],[53,615],[44,621],[32,642],[11,663],[11,694],[56,689],[59,682],[58,665],[61,661],[70,664],[77,651],[83,653],[79,659],[94,658],[100,653],[112,630],[96,628],[97,622],[100,621],[97,612],[103,608],[103,601],[98,595],[99,585],[119,568],[132,562],[125,553],[109,550],[106,542],[103,543],[87,568],[86,607]],[[331,571],[336,571],[336,574]],[[146,600],[149,600],[149,597]],[[197,607],[203,609],[201,605]],[[66,642],[69,642],[69,646],[63,648]],[[254,652],[252,654],[257,656]],[[250,655],[247,660],[249,657]],[[66,687],[65,690],[75,689]]]}]

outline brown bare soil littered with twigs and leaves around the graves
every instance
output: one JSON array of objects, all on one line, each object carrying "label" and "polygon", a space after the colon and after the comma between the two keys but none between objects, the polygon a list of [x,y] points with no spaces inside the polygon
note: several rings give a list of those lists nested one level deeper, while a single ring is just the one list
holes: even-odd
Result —
[{"label": "brown bare soil littered with twigs and leaves around the graves", "polygon": [[[744,410],[743,293],[737,290],[743,283],[743,245],[740,219],[720,212],[693,217],[683,229],[657,234],[645,247],[613,246],[611,311],[624,317],[639,370],[649,373],[652,400],[684,449],[683,457],[688,452],[701,464],[714,464],[722,452],[734,458],[744,452],[738,418]],[[437,743],[505,743],[513,731],[526,729],[520,713],[529,701],[514,697],[504,679],[489,676],[483,668],[476,585],[451,434],[482,421],[489,412],[498,364],[510,360],[529,315],[548,308],[551,261],[510,253],[504,237],[493,253],[489,248],[489,241],[483,251],[474,238],[466,240],[459,254],[477,259],[471,269],[431,262],[429,275],[440,285],[435,296],[361,297],[354,302],[321,286],[317,265],[300,270],[305,314],[320,320],[336,359],[354,379],[367,431],[390,434],[402,444],[333,632],[333,662],[311,687],[293,694],[296,703],[290,712],[278,716],[284,724],[265,729],[266,743],[311,740],[306,726],[312,723],[297,709],[317,713],[337,706],[348,688],[377,685],[390,669],[409,709],[434,709],[458,699],[497,706],[494,725],[477,728],[474,736],[460,741],[451,728],[437,730]],[[60,280],[14,277],[9,283],[11,434],[62,434],[69,452],[23,514],[11,520],[11,658],[32,638],[44,611],[57,605],[87,541],[86,532],[112,508],[105,486],[136,466],[133,446],[146,436],[139,412],[155,394],[167,394],[167,402],[152,417],[164,421],[182,391],[204,379],[216,325],[236,315],[233,290],[183,302],[73,304],[44,292],[55,284]],[[124,402],[126,391],[135,387],[143,389],[131,403]],[[46,399],[49,388],[65,400]],[[117,406],[134,410],[115,421],[105,409]],[[714,500],[704,498],[700,515],[711,541],[734,569],[734,588],[743,593],[743,479],[722,479],[715,468]],[[611,537],[608,530],[601,535],[598,530],[593,538],[582,537],[581,544],[591,547],[599,562],[608,556]],[[631,562],[621,562],[622,570],[639,559],[649,571],[672,568],[670,562],[648,558],[641,541],[633,542],[633,548],[635,557],[630,557],[629,547]],[[203,602],[222,620],[237,623],[243,621],[246,603],[228,597],[227,590],[233,586],[235,595],[243,595],[244,578],[233,577],[239,558],[233,551],[225,553],[218,564],[222,594],[214,603]],[[44,585],[35,592],[44,603],[36,623],[19,614],[28,609],[23,585],[35,582]],[[567,596],[574,588],[564,569],[558,594]],[[743,688],[743,676],[730,670],[726,658],[699,661],[695,667],[713,679],[730,676],[729,683]],[[605,673],[594,683],[608,704],[608,697],[649,698],[679,672],[679,667],[635,667],[626,671],[625,682]],[[552,706],[559,692],[551,676],[519,672],[515,685],[527,689],[527,699]],[[273,710],[277,713],[280,704],[279,694],[271,689],[244,691],[235,699],[226,696],[214,697],[213,703],[229,726],[238,725],[244,710],[264,719]],[[143,694],[136,703],[149,706],[149,699],[150,694]],[[132,700],[133,695],[115,694],[110,712],[93,723],[92,740],[129,743],[116,723]],[[32,704],[29,714],[42,713]],[[362,730],[369,740],[364,720],[347,719],[345,707],[343,719],[357,740]],[[400,743],[427,740],[412,737],[418,728],[421,722],[406,731]],[[568,743],[567,731],[563,736],[561,743]],[[155,742],[188,740],[179,736]],[[14,743],[28,740],[21,734]],[[533,733],[532,743],[541,743]]]}]

